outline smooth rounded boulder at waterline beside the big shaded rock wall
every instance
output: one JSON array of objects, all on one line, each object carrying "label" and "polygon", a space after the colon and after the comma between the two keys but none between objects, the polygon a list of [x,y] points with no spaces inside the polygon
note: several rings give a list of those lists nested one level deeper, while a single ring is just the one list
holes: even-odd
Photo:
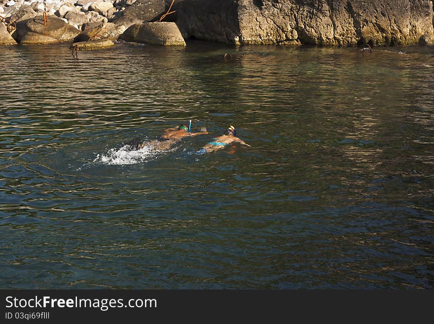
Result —
[{"label": "smooth rounded boulder at waterline beside the big shaded rock wall", "polygon": [[151,45],[185,46],[184,38],[174,22],[135,24],[129,27],[120,39]]}]

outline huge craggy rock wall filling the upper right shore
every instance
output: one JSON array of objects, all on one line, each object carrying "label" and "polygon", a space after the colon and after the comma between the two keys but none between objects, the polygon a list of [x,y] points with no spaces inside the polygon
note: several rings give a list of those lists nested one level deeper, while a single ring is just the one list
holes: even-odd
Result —
[{"label": "huge craggy rock wall filling the upper right shore", "polygon": [[182,0],[184,36],[241,44],[412,45],[433,39],[427,0]]}]

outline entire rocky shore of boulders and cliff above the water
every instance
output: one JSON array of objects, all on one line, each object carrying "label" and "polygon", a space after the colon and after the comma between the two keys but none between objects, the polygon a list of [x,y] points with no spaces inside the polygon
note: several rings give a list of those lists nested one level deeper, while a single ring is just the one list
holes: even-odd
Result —
[{"label": "entire rocky shore of boulders and cliff above the water", "polygon": [[[163,17],[173,25],[147,24],[157,22],[171,4],[172,0],[0,0],[0,44],[94,37],[159,45],[184,45],[182,38],[339,46],[434,40],[431,0],[176,0],[171,8],[175,12]],[[43,24],[44,19],[48,23]]]}]

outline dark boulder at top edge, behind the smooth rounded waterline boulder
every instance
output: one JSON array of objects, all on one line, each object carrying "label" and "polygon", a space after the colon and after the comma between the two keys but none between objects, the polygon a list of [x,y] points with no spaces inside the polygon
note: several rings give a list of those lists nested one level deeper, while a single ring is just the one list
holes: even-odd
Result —
[{"label": "dark boulder at top edge, behind the smooth rounded waterline boulder", "polygon": [[122,15],[112,22],[123,33],[134,24],[155,20],[161,16],[165,8],[165,0],[136,0],[132,5],[121,11]]}]

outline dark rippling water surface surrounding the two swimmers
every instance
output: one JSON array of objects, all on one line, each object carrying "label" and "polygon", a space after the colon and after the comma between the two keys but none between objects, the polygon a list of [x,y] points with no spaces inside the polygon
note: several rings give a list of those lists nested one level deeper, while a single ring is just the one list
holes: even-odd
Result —
[{"label": "dark rippling water surface surrounding the two swimmers", "polygon": [[433,288],[433,58],[0,48],[0,287]]}]

